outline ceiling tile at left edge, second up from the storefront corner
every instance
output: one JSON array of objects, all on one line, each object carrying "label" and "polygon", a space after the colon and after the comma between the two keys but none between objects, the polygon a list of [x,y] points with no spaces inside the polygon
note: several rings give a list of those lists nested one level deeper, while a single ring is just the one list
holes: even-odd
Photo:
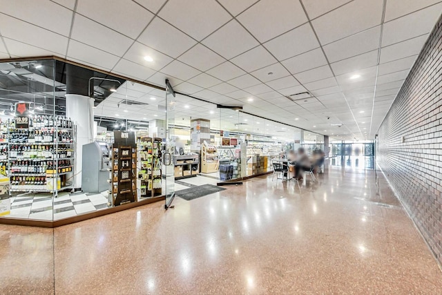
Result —
[{"label": "ceiling tile at left edge, second up from the storefront corner", "polygon": [[[66,54],[68,38],[33,26],[30,23],[0,14],[0,30],[3,37],[52,51],[52,53],[57,53],[57,55],[64,56]],[[32,56],[26,54],[25,50],[19,49],[19,51],[21,52],[20,55],[13,50],[10,50],[10,54],[26,57]],[[34,49],[33,51],[35,52],[36,50]]]}]

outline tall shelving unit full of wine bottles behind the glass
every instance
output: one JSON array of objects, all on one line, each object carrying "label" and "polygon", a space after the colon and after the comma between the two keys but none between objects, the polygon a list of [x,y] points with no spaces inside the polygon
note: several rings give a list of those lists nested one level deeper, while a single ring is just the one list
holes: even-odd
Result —
[{"label": "tall shelving unit full of wine bottles behind the glass", "polygon": [[[12,192],[73,189],[76,126],[66,117],[39,116],[8,128],[8,169]],[[16,124],[17,125],[17,124]]]}]

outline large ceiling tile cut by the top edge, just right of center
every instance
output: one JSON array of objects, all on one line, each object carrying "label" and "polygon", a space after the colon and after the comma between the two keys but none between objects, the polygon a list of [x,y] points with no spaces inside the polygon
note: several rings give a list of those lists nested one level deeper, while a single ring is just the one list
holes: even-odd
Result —
[{"label": "large ceiling tile cut by the top edge, just right of center", "polygon": [[[299,1],[261,0],[237,17],[261,43],[307,22]],[[271,26],[268,21],[271,20]]]}]

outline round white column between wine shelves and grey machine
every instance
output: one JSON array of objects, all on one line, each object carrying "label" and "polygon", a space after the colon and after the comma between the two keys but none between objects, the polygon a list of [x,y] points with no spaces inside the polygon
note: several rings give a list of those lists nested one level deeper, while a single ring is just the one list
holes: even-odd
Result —
[{"label": "round white column between wine shelves and grey machine", "polygon": [[[66,94],[66,117],[77,126],[77,155],[75,155],[74,188],[81,188],[83,146],[93,142],[93,99],[84,95]],[[99,159],[97,159],[99,160]]]}]

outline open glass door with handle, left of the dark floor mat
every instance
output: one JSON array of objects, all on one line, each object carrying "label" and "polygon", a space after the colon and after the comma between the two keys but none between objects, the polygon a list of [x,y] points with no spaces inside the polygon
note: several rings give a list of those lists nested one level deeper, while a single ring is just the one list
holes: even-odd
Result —
[{"label": "open glass door with handle, left of the dark floor mat", "polygon": [[[165,153],[163,155],[165,187],[166,187],[166,209],[171,206],[175,197],[175,165],[173,163],[173,155],[175,155],[175,97],[173,90],[166,86],[166,138]],[[183,173],[192,173],[191,169]]]}]

